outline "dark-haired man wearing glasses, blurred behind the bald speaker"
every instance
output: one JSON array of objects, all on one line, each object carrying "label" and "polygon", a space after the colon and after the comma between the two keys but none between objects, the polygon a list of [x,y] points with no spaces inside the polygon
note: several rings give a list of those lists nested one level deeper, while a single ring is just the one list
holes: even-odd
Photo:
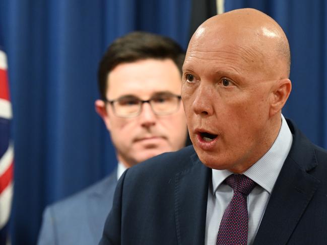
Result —
[{"label": "dark-haired man wearing glasses, blurred behind the bald speaker", "polygon": [[46,208],[38,244],[97,244],[124,170],[185,145],[184,55],[173,40],[144,32],[109,46],[99,66],[101,99],[95,108],[110,132],[118,167],[87,190]]}]

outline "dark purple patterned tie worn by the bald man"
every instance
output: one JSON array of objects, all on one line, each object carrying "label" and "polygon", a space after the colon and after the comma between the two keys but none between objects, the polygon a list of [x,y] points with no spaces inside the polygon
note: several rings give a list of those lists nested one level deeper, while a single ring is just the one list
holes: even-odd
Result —
[{"label": "dark purple patterned tie worn by the bald man", "polygon": [[221,219],[217,245],[247,244],[248,214],[246,197],[256,183],[245,175],[230,175],[225,183],[234,190],[234,195]]}]

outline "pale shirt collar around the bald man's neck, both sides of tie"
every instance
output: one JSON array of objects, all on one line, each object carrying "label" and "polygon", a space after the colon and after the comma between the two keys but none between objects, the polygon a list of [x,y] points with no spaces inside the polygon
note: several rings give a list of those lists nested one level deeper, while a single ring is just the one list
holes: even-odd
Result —
[{"label": "pale shirt collar around the bald man's neck, both sides of tie", "polygon": [[[291,149],[292,141],[291,130],[282,115],[282,126],[272,147],[243,174],[271,194],[279,172]],[[231,174],[232,172],[228,170],[212,170],[213,193]]]}]

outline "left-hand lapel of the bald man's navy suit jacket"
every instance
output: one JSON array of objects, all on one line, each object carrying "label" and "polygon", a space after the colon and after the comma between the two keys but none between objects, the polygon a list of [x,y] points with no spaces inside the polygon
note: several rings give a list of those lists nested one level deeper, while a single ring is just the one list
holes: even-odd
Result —
[{"label": "left-hand lapel of the bald man's navy suit jacket", "polygon": [[179,245],[198,245],[205,241],[211,171],[195,152],[191,161],[189,169],[175,176],[175,221]]}]

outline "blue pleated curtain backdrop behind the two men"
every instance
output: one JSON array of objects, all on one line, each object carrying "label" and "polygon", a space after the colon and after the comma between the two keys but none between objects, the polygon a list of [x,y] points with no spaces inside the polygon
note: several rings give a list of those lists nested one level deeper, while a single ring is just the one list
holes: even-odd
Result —
[{"label": "blue pleated curtain backdrop behind the two men", "polygon": [[[214,1],[214,0],[213,0]],[[35,244],[45,205],[103,178],[116,165],[94,111],[96,72],[107,45],[133,30],[186,48],[191,0],[2,0],[15,140],[12,243]],[[225,0],[283,27],[292,52],[292,95],[283,113],[327,146],[327,5],[324,0]]]}]

